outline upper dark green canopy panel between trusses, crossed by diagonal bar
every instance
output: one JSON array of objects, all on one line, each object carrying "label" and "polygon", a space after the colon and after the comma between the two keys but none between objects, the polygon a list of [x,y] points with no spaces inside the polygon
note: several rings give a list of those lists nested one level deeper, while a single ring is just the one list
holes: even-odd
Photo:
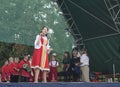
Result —
[{"label": "upper dark green canopy panel between trusses, crossed by diagonal bar", "polygon": [[118,33],[104,0],[58,1],[64,1],[84,40]]}]

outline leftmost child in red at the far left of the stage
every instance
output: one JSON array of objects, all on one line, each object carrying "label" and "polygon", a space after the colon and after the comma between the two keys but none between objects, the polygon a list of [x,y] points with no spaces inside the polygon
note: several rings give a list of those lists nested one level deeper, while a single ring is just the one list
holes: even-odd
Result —
[{"label": "leftmost child in red at the far left of the stage", "polygon": [[2,66],[2,82],[8,82],[10,80],[10,75],[8,72],[8,60],[5,60],[4,65]]}]

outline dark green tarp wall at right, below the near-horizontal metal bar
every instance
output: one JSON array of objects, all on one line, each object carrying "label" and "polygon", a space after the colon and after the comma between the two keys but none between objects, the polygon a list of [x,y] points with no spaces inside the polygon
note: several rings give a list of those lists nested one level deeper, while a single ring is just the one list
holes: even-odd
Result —
[{"label": "dark green tarp wall at right, below the near-horizontal metal bar", "polygon": [[116,72],[120,72],[120,35],[114,35],[86,41],[90,57],[91,71],[112,73],[113,63]]}]

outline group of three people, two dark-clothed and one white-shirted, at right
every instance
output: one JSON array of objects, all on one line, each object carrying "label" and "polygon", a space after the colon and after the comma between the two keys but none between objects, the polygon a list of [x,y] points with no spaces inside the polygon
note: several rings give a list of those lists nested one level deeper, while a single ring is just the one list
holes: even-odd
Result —
[{"label": "group of three people, two dark-clothed and one white-shirted, at right", "polygon": [[69,52],[64,53],[62,61],[63,71],[58,75],[64,76],[64,81],[69,82],[90,82],[89,80],[89,57],[87,56],[86,49],[78,51],[74,48],[72,51],[72,58]]}]

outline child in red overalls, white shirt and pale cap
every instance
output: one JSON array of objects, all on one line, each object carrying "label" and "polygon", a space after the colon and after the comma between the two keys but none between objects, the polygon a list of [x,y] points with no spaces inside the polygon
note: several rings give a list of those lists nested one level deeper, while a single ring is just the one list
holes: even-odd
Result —
[{"label": "child in red overalls, white shirt and pale cap", "polygon": [[50,66],[50,73],[49,73],[49,80],[50,82],[57,82],[58,81],[58,61],[56,60],[56,53],[52,54],[52,60],[49,62]]}]

